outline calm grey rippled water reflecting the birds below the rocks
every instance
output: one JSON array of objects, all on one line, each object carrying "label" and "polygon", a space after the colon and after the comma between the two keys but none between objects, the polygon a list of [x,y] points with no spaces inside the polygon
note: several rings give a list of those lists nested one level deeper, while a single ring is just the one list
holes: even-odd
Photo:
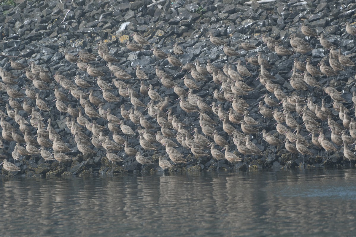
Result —
[{"label": "calm grey rippled water reflecting the birds below the rocks", "polygon": [[351,236],[355,172],[2,179],[0,236]]}]

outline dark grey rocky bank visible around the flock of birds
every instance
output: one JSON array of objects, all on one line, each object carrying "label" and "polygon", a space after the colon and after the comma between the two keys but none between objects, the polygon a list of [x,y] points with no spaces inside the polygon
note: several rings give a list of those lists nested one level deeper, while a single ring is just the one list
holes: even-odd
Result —
[{"label": "dark grey rocky bank visible around the flock of birds", "polygon": [[[181,68],[174,68],[166,59],[157,59],[152,54],[151,48],[157,46],[165,53],[173,54],[173,45],[178,42],[179,46],[184,49],[184,54],[178,55],[177,58],[183,64],[194,63],[194,61],[199,60],[200,63],[206,65],[206,62],[211,60],[214,66],[222,69],[229,62],[230,57],[224,53],[223,45],[216,47],[209,41],[208,33],[212,32],[214,36],[229,42],[229,47],[236,49],[240,53],[239,56],[232,57],[234,62],[238,59],[244,60],[246,57],[257,56],[258,52],[262,52],[263,57],[273,65],[273,68],[269,72],[276,77],[276,79],[273,79],[274,84],[279,85],[282,91],[288,96],[298,95],[305,99],[311,96],[312,101],[320,106],[322,99],[324,99],[326,107],[332,111],[333,119],[342,126],[342,120],[339,119],[339,111],[333,108],[333,99],[331,99],[330,95],[324,93],[322,88],[313,88],[313,93],[311,87],[306,91],[296,91],[288,80],[292,76],[291,70],[293,69],[294,58],[304,61],[307,57],[310,57],[314,66],[320,63],[324,56],[327,57],[326,61],[329,60],[329,51],[320,45],[319,40],[313,37],[309,39],[310,46],[313,49],[306,55],[295,53],[294,55],[281,57],[269,50],[260,38],[263,33],[267,33],[270,37],[279,39],[282,42],[281,45],[285,48],[290,49],[292,47],[289,44],[288,37],[296,33],[298,37],[304,38],[300,26],[302,23],[305,23],[307,26],[315,29],[318,35],[323,33],[331,43],[341,48],[341,52],[355,63],[356,38],[346,33],[345,26],[343,26],[346,22],[354,23],[355,20],[353,19],[356,16],[355,9],[355,2],[350,0],[334,2],[292,0],[267,2],[265,4],[260,4],[256,1],[252,1],[251,4],[244,4],[244,1],[238,0],[178,0],[162,1],[155,5],[152,5],[152,1],[129,2],[127,0],[100,1],[99,3],[84,0],[62,2],[23,1],[15,6],[3,3],[0,5],[0,22],[3,22],[2,26],[0,26],[0,66],[5,71],[18,75],[18,83],[11,86],[11,88],[17,91],[22,91],[25,85],[32,85],[32,81],[28,80],[25,74],[11,68],[10,64],[8,64],[10,59],[20,61],[26,65],[30,61],[35,61],[36,65],[41,65],[47,69],[51,76],[54,76],[56,71],[59,71],[61,75],[69,80],[75,79],[76,75],[82,75],[83,79],[86,79],[89,84],[93,85],[91,89],[94,90],[95,95],[103,100],[101,96],[102,92],[96,80],[88,76],[87,72],[79,71],[77,64],[72,64],[64,58],[66,50],[70,54],[76,55],[80,50],[85,49],[89,53],[98,55],[98,43],[100,40],[103,40],[109,47],[109,53],[119,59],[119,62],[114,64],[120,66],[121,69],[124,69],[133,77],[132,80],[126,80],[125,82],[130,84],[132,89],[138,93],[138,98],[143,104],[147,105],[151,99],[148,96],[140,94],[141,83],[140,80],[136,79],[135,74],[137,65],[140,65],[141,70],[148,76],[148,79],[143,80],[146,86],[152,85],[162,98],[169,94],[171,99],[169,108],[172,108],[173,114],[177,115],[180,121],[187,124],[185,128],[189,132],[193,131],[194,128],[198,128],[199,134],[203,134],[199,124],[199,114],[194,112],[189,114],[189,118],[187,118],[187,113],[180,108],[179,101],[176,100],[179,97],[174,93],[173,88],[169,89],[168,92],[167,88],[162,86],[161,80],[155,73],[155,67],[159,65],[167,74],[174,76],[175,83],[188,91],[182,79],[185,75],[190,77],[189,70],[180,71]],[[139,32],[150,43],[150,45],[144,47],[144,50],[136,53],[131,52],[126,47],[127,41],[133,41],[132,34],[134,32]],[[239,50],[239,45],[243,42],[256,45],[257,48],[249,50],[247,54],[246,50]],[[104,72],[105,76],[103,76],[103,79],[111,83],[112,78],[110,76],[112,73],[105,66],[106,62],[100,56],[98,56],[97,60],[91,61],[90,64]],[[261,80],[256,80],[259,75],[257,69],[260,67],[248,63],[245,64],[245,61],[242,65],[245,65],[252,73],[251,77],[244,77],[244,82],[253,87],[254,90],[244,95],[243,99],[249,105],[247,108],[248,114],[258,122],[253,127],[259,133],[263,129],[267,130],[267,132],[280,139],[281,143],[277,146],[277,151],[273,152],[269,144],[263,140],[262,135],[258,135],[258,133],[257,135],[251,135],[251,141],[263,152],[263,156],[242,156],[242,160],[245,157],[246,163],[237,162],[235,168],[239,170],[257,170],[261,168],[294,168],[300,166],[300,163],[303,162],[303,157],[294,156],[292,159],[292,153],[288,152],[284,147],[284,136],[277,133],[276,125],[274,125],[275,120],[272,118],[267,122],[259,113],[258,104],[261,100],[263,101],[261,96],[266,93],[266,88],[261,84]],[[234,66],[234,68],[236,67]],[[352,108],[354,105],[352,102],[352,93],[355,91],[355,67],[345,67],[345,71],[338,72],[336,77],[330,77],[332,79],[330,81],[326,76],[316,76],[315,78],[323,87],[326,87],[326,84],[329,82],[330,87],[334,87],[337,91],[342,92],[341,96],[346,101],[343,104],[345,108],[349,109],[347,114],[351,118],[355,118],[354,109]],[[201,90],[195,90],[194,93],[203,98],[205,103],[208,105],[213,102],[221,104],[225,112],[231,108],[231,102],[219,102],[214,97],[214,90],[219,90],[221,86],[213,82],[210,74],[206,76],[206,81],[200,81],[198,85]],[[41,98],[46,101],[51,111],[42,111],[41,114],[45,118],[44,123],[46,123],[46,126],[47,119],[51,118],[51,126],[61,136],[62,140],[68,144],[70,149],[73,150],[73,152],[67,153],[72,159],[65,160],[59,164],[53,161],[45,163],[45,160],[40,155],[34,155],[31,160],[30,156],[22,157],[15,163],[16,166],[20,167],[21,171],[14,173],[2,168],[2,176],[14,174],[27,177],[36,175],[90,175],[141,171],[141,165],[135,160],[131,162],[130,157],[126,155],[123,148],[115,152],[115,154],[123,157],[125,160],[117,163],[112,163],[106,158],[103,148],[95,149],[97,152],[95,154],[83,155],[75,144],[74,136],[67,128],[66,115],[63,116],[56,108],[56,102],[54,102],[56,97],[53,92],[54,86],[59,86],[59,83],[52,79],[52,82],[48,83],[48,86],[50,90],[42,90]],[[112,87],[114,87],[112,93],[119,96],[119,90],[114,85]],[[7,95],[5,89],[1,93],[3,103],[0,104],[0,108],[6,114],[5,106],[9,104],[7,101],[9,95]],[[89,92],[89,90],[90,88],[83,91]],[[62,91],[69,94],[68,98],[70,102],[68,104],[71,104],[75,108],[77,99],[73,98],[68,90],[63,89]],[[38,92],[39,90],[37,90]],[[269,92],[267,91],[267,93]],[[119,97],[121,99],[119,103],[105,103],[103,109],[111,108],[112,114],[121,119],[119,107],[123,105],[125,109],[129,109],[132,107],[132,104],[130,98]],[[16,98],[15,100],[22,105],[23,98]],[[274,100],[278,101],[275,98]],[[35,106],[35,101],[33,101],[33,104]],[[282,104],[279,106],[274,108],[283,110]],[[36,110],[39,111],[37,107]],[[84,109],[82,110],[84,112]],[[96,109],[96,111],[98,110]],[[156,118],[148,115],[144,107],[139,108],[138,111],[142,112],[149,122],[154,125],[156,124]],[[208,112],[207,114],[217,122],[218,125],[215,128],[219,134],[227,142],[230,142],[230,151],[240,157],[240,152],[236,149],[236,145],[233,144],[232,138],[230,139],[230,136],[223,130],[223,122],[220,122],[219,117],[212,112]],[[299,124],[303,123],[302,118],[297,113],[291,112],[291,114]],[[29,114],[20,111],[20,115],[26,118]],[[15,126],[16,129],[19,127],[14,119],[7,117],[5,120]],[[30,118],[26,118],[26,120],[30,122]],[[90,118],[88,120],[91,121]],[[99,125],[107,124],[103,118],[95,118],[94,120]],[[319,122],[321,121],[319,120]],[[125,124],[129,125],[133,130],[137,129],[137,126],[131,121],[126,121]],[[240,124],[232,124],[232,126],[241,131]],[[342,153],[344,145],[336,146],[334,144],[337,147],[337,151],[331,152],[329,158],[319,156],[321,152],[318,151],[318,147],[313,145],[311,137],[308,136],[310,132],[305,129],[305,125],[302,126],[300,134],[308,140],[310,143],[310,148],[308,149],[313,153],[312,156],[305,157],[306,165],[315,167],[349,166],[349,160]],[[323,125],[320,125],[320,127],[323,128],[325,137],[330,140],[331,131],[328,130],[329,127],[326,120],[323,121]],[[35,127],[29,126],[29,128],[33,135],[37,133]],[[157,130],[161,130],[160,126],[157,126],[157,128],[152,131],[156,133]],[[89,130],[83,129],[83,131],[87,136],[91,137],[92,133]],[[107,128],[103,131],[106,135],[109,135],[110,139],[112,138],[112,132]],[[174,130],[172,129],[172,131]],[[350,131],[347,130],[347,132],[350,134]],[[17,133],[20,134],[20,131],[17,131]],[[138,132],[136,132],[135,136],[130,136],[128,142],[131,147],[144,152],[137,136]],[[175,139],[172,140],[177,143]],[[212,137],[210,141],[214,141]],[[11,152],[14,150],[15,144],[16,142],[14,141],[9,142],[5,140],[4,148],[2,149],[3,157],[9,159],[12,163]],[[146,165],[146,172],[162,171],[158,166],[159,157],[168,157],[161,144],[155,143],[155,145],[158,146],[158,151],[148,151],[147,153],[148,158],[154,164]],[[184,166],[178,165],[177,170],[215,170],[218,167],[218,163],[221,170],[231,170],[231,164],[228,161],[221,160],[217,162],[210,156],[210,147],[208,147],[208,144],[203,148],[207,152],[207,155],[201,159],[198,159],[198,157],[193,158],[192,152],[184,147],[180,146],[176,148],[185,155],[188,161]],[[223,148],[221,147],[219,150]],[[350,149],[355,151],[354,147],[350,147]],[[48,150],[52,152],[51,149]],[[352,166],[354,164],[355,161],[352,161]],[[175,167],[169,168],[169,172],[175,171]]]}]

